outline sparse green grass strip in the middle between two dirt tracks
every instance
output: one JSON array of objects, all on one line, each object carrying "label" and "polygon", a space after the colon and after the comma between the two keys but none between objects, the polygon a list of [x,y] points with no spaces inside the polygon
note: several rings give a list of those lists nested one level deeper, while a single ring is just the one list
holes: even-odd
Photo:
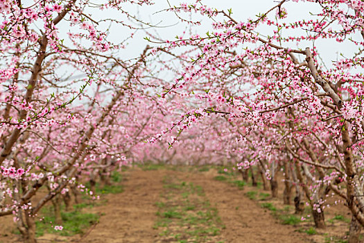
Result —
[{"label": "sparse green grass strip in the middle between two dirt tracks", "polygon": [[153,226],[159,230],[156,240],[211,242],[210,237],[225,228],[218,210],[210,205],[200,185],[171,176],[165,176],[163,183],[162,202],[156,203],[158,219]]}]

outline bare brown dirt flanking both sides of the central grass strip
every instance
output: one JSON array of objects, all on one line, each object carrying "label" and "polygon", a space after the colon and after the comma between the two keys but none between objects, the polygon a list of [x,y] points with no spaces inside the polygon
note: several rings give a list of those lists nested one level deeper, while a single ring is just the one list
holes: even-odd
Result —
[{"label": "bare brown dirt flanking both sides of the central grass strip", "polygon": [[[38,242],[159,242],[160,232],[153,227],[158,210],[155,203],[163,193],[165,176],[180,178],[203,188],[205,196],[217,208],[225,224],[220,231],[223,242],[322,242],[315,235],[297,231],[297,226],[280,224],[257,201],[248,199],[245,189],[239,190],[238,187],[214,180],[216,171],[191,173],[166,169],[130,169],[123,172],[124,192],[107,194],[107,203],[87,209],[102,216],[85,235],[62,237],[46,234],[39,237]],[[12,219],[0,220],[0,242],[17,242],[19,236],[4,235],[4,232],[15,228]]]}]

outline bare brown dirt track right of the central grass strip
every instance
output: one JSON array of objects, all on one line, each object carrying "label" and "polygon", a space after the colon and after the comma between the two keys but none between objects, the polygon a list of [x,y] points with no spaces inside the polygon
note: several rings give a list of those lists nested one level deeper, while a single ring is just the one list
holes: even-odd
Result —
[{"label": "bare brown dirt track right of the central grass strip", "polygon": [[205,194],[216,205],[226,228],[225,242],[309,242],[297,228],[279,224],[269,212],[248,199],[243,191],[227,183],[214,181],[216,174],[192,174],[189,181],[204,187]]}]

